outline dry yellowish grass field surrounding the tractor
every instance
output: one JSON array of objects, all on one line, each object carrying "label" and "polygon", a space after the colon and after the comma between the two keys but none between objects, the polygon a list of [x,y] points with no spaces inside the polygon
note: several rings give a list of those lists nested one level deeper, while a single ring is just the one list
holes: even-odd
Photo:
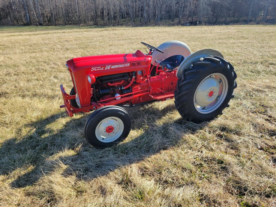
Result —
[{"label": "dry yellowish grass field surrounding the tractor", "polygon": [[[67,117],[68,59],[185,42],[235,67],[230,107],[184,121],[174,101],[127,108],[128,138],[84,141]],[[276,206],[276,26],[0,27],[0,206]]]}]

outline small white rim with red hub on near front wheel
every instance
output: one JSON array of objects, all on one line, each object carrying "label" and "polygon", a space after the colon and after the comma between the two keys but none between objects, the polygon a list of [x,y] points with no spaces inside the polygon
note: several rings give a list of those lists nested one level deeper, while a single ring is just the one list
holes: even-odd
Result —
[{"label": "small white rim with red hub on near front wheel", "polygon": [[109,143],[117,140],[124,131],[124,123],[118,117],[108,117],[100,121],[95,130],[97,139]]}]

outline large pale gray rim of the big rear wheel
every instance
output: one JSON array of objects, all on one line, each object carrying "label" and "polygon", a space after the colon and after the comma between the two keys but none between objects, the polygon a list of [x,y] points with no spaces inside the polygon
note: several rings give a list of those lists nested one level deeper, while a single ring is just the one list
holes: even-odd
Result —
[{"label": "large pale gray rim of the big rear wheel", "polygon": [[194,106],[199,113],[215,111],[223,103],[228,91],[228,81],[221,73],[203,79],[194,94]]}]

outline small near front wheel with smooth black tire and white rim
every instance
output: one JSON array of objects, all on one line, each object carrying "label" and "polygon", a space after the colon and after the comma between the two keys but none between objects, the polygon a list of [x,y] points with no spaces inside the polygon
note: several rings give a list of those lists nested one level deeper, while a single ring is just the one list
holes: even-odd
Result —
[{"label": "small near front wheel with smooth black tire and white rim", "polygon": [[131,129],[131,120],[125,109],[119,106],[104,106],[88,117],[84,134],[94,147],[109,147],[124,140]]}]

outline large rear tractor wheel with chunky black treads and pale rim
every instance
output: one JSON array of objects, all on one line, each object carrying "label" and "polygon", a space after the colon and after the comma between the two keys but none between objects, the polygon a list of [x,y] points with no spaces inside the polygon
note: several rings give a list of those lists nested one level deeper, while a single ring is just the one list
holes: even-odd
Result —
[{"label": "large rear tractor wheel with chunky black treads and pale rim", "polygon": [[176,109],[183,118],[195,123],[213,119],[234,97],[236,77],[234,67],[218,56],[191,63],[174,91]]}]

